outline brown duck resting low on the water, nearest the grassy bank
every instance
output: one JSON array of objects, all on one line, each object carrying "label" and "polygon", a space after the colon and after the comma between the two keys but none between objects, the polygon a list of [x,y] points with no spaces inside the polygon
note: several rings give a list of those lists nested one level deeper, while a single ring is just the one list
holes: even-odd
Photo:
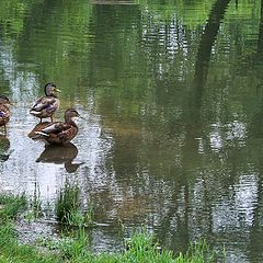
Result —
[{"label": "brown duck resting low on the water, nearest the grassy bank", "polygon": [[41,135],[50,145],[68,144],[78,134],[78,126],[72,118],[79,116],[79,113],[75,108],[68,108],[65,112],[65,123],[52,123],[35,134]]}]

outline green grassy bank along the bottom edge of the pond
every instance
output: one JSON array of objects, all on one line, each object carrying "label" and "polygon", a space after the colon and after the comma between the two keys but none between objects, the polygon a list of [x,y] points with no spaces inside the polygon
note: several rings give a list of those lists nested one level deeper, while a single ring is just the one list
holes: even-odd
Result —
[{"label": "green grassy bank along the bottom edge of the pond", "polygon": [[[135,232],[126,249],[119,253],[93,254],[89,250],[84,228],[75,231],[71,238],[64,238],[54,244],[45,243],[45,249],[32,244],[19,244],[15,232],[15,218],[25,209],[26,199],[22,197],[0,196],[0,263],[2,262],[89,262],[89,263],[202,263],[216,262],[214,253],[205,242],[199,242],[186,254],[176,254],[168,250],[159,250],[152,235],[146,231]],[[53,248],[53,249],[52,249]]]}]

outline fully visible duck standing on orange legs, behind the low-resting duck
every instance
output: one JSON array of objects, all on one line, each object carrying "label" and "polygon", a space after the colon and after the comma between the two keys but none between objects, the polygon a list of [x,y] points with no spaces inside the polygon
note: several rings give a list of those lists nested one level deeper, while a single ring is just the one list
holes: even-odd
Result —
[{"label": "fully visible duck standing on orange legs, behind the low-resting duck", "polygon": [[34,115],[35,117],[41,118],[47,118],[49,117],[53,123],[53,115],[59,107],[59,100],[57,98],[57,92],[60,92],[60,90],[57,89],[57,87],[54,83],[47,83],[45,85],[45,96],[39,98],[34,106],[30,110],[30,113]]}]

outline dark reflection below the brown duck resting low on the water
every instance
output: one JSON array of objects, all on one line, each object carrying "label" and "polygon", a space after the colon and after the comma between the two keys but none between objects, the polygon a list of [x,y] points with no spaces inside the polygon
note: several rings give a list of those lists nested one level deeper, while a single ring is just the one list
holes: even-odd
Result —
[{"label": "dark reflection below the brown duck resting low on the water", "polygon": [[78,148],[71,142],[67,145],[46,145],[36,162],[64,163],[67,172],[73,173],[83,163],[72,163],[77,156]]}]

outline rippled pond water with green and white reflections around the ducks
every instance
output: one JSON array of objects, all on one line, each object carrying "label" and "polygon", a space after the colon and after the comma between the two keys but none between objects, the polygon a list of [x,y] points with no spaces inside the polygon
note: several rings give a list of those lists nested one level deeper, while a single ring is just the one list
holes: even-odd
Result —
[{"label": "rippled pond water with green and white reflections around the ducks", "polygon": [[[94,250],[146,226],[185,251],[207,239],[227,262],[263,261],[261,1],[0,2],[0,191],[53,206],[70,180],[92,202]],[[67,147],[28,137],[46,82],[76,107]]]}]

